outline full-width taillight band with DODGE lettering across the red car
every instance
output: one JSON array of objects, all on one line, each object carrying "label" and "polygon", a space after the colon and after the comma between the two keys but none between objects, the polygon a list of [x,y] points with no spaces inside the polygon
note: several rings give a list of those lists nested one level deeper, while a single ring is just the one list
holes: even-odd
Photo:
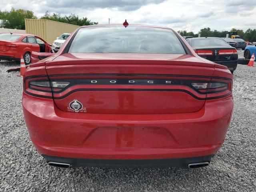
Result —
[{"label": "full-width taillight band with DODGE lettering across the red car", "polygon": [[[154,75],[152,75],[154,76]],[[200,76],[31,76],[24,80],[24,92],[42,98],[62,99],[76,91],[173,91],[186,92],[198,100],[216,99],[232,92],[232,80]]]}]

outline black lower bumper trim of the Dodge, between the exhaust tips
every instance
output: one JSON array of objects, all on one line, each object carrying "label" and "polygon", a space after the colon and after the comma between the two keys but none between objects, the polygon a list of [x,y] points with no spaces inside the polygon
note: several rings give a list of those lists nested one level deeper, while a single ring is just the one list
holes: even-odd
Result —
[{"label": "black lower bumper trim of the Dodge, between the exhaust tips", "polygon": [[46,162],[58,162],[70,164],[72,167],[122,167],[122,168],[150,168],[150,167],[180,167],[188,168],[188,164],[209,162],[214,155],[176,159],[150,159],[150,160],[102,160],[64,158],[43,155]]}]

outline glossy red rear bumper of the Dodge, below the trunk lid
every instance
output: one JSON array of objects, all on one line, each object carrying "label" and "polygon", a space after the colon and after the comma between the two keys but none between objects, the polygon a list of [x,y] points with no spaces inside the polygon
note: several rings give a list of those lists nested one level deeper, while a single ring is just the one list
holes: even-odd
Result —
[{"label": "glossy red rear bumper of the Dodge, below the trunk lid", "polygon": [[[84,114],[60,111],[53,100],[24,93],[22,105],[38,152],[52,161],[72,158],[80,166],[87,160],[168,162],[216,154],[225,140],[234,102],[230,95],[206,101],[197,112],[180,114]],[[73,158],[87,160],[80,163]]]}]

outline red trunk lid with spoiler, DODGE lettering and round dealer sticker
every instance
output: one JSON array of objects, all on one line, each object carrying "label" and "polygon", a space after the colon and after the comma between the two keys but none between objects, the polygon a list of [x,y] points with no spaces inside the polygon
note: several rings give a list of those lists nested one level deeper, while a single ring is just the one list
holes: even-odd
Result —
[{"label": "red trunk lid with spoiler, DODGE lettering and round dealer sticker", "polygon": [[214,64],[178,54],[64,54],[46,71],[60,110],[170,114],[202,108],[206,94],[191,83],[209,82]]}]

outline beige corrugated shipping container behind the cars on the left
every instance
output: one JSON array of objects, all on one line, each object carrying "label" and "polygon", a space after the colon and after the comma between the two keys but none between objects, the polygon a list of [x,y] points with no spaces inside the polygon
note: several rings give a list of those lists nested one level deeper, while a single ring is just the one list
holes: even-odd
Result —
[{"label": "beige corrugated shipping container behind the cars on the left", "polygon": [[25,19],[26,33],[40,36],[52,44],[63,33],[72,33],[78,25],[72,25],[46,19]]}]

